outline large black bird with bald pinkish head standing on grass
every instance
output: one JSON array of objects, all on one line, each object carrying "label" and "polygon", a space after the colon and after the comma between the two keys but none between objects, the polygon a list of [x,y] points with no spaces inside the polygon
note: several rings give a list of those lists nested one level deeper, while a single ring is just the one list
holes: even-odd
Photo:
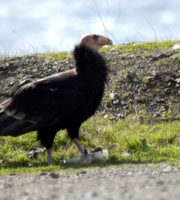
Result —
[{"label": "large black bird with bald pinkish head standing on grass", "polygon": [[107,79],[106,63],[98,53],[112,41],[100,35],[87,35],[75,46],[76,68],[24,86],[0,104],[0,136],[18,136],[37,130],[52,164],[52,145],[60,129],[78,150],[87,153],[78,140],[81,124],[92,116],[101,102]]}]

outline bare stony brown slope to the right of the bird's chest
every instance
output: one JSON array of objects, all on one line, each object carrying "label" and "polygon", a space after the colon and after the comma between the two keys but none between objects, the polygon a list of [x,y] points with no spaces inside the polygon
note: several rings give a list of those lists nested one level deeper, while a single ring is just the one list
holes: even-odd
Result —
[{"label": "bare stony brown slope to the right of the bird's chest", "polygon": [[132,113],[153,117],[179,113],[179,50],[112,51],[108,60],[111,72],[103,103],[115,118]]}]

